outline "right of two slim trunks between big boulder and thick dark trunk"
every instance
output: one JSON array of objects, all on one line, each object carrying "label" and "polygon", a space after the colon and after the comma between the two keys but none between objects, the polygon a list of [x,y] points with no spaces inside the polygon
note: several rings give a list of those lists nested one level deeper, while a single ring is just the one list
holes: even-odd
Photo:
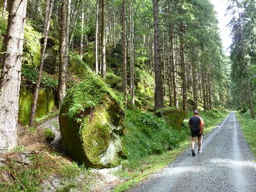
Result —
[{"label": "right of two slim trunks between big boulder and thick dark trunk", "polygon": [[130,87],[131,87],[131,102],[134,105],[134,45],[133,45],[133,20],[132,20],[131,0],[129,0],[129,29],[130,29]]}]

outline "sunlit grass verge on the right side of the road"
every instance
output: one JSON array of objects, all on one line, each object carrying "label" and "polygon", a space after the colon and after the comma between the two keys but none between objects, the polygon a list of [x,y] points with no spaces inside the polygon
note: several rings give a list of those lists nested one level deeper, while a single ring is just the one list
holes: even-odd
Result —
[{"label": "sunlit grass verge on the right side of the road", "polygon": [[246,141],[256,158],[256,120],[251,119],[250,112],[246,112],[243,115],[236,112],[236,117],[239,120],[241,129],[243,130],[244,138],[246,138]]}]

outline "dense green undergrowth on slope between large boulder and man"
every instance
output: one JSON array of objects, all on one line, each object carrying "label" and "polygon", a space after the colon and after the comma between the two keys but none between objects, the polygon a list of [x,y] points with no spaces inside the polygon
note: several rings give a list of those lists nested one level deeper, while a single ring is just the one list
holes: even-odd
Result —
[{"label": "dense green undergrowth on slope between large boulder and man", "polygon": [[171,129],[162,118],[143,111],[126,111],[125,127],[128,133],[122,140],[131,164],[178,147],[188,134],[187,129]]}]

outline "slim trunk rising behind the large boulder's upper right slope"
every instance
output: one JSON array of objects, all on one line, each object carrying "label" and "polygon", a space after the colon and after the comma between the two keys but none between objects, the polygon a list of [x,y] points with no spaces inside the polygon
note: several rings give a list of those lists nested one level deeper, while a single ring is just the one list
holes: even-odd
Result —
[{"label": "slim trunk rising behind the large boulder's upper right slope", "polygon": [[106,0],[101,0],[101,75],[106,79]]}]

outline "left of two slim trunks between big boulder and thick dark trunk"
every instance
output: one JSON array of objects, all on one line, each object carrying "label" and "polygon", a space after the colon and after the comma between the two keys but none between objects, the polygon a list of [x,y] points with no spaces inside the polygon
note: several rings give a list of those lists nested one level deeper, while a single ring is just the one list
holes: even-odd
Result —
[{"label": "left of two slim trunks between big boulder and thick dark trunk", "polygon": [[122,3],[122,41],[123,41],[123,93],[125,93],[125,106],[127,107],[127,72],[126,72],[126,23],[125,23],[125,3]]}]

